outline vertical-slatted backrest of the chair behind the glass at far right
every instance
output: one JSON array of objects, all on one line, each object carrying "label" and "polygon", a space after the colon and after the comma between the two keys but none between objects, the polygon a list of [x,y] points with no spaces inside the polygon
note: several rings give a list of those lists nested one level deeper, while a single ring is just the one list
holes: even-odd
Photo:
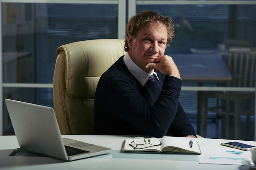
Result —
[{"label": "vertical-slatted backrest of the chair behind the glass at far right", "polygon": [[227,67],[232,75],[234,87],[252,87],[255,85],[255,48],[229,48]]}]

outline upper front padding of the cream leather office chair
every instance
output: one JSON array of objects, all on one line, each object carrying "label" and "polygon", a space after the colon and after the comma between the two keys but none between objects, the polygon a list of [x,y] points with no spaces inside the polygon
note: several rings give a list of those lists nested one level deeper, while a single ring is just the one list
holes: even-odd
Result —
[{"label": "upper front padding of the cream leather office chair", "polygon": [[78,41],[57,48],[66,58],[67,94],[94,98],[100,76],[125,53],[123,39]]}]

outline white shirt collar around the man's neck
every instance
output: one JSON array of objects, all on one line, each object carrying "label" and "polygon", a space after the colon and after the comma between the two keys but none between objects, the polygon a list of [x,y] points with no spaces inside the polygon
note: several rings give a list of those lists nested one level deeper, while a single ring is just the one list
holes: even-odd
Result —
[{"label": "white shirt collar around the man's neck", "polygon": [[151,76],[153,74],[155,74],[155,76],[157,78],[157,81],[159,81],[159,78],[158,78],[157,73],[155,71],[153,71],[150,74],[145,72],[143,69],[141,69],[138,65],[136,65],[132,61],[128,52],[126,52],[126,54],[124,55],[124,64],[126,65],[128,70],[132,73],[132,75],[135,76],[135,78],[137,78],[137,80],[139,81],[139,83],[141,83],[142,86],[144,86],[146,84],[146,82],[148,81],[149,76]]}]

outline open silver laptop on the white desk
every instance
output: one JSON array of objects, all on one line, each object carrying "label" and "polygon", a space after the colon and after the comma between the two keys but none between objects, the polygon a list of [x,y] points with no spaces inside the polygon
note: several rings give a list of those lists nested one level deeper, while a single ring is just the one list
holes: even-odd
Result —
[{"label": "open silver laptop on the white desk", "polygon": [[[54,109],[27,102],[5,99],[20,148],[73,161],[110,153],[112,149],[62,138]],[[67,153],[72,150],[72,153]],[[78,150],[78,151],[77,151]]]}]

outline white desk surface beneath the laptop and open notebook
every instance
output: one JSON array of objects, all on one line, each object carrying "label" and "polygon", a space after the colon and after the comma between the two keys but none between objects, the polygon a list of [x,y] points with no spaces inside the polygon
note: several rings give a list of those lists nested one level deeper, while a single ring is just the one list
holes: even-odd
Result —
[{"label": "white desk surface beneath the laptop and open notebook", "polygon": [[[19,148],[16,136],[0,136],[0,169],[4,170],[248,170],[247,166],[199,164],[197,155],[121,153],[121,146],[128,136],[114,135],[63,135],[87,143],[113,149],[106,155],[71,162],[51,157],[8,156]],[[185,138],[188,139],[189,138]],[[226,139],[197,138],[200,147],[225,147]],[[256,142],[242,141],[256,145]]]}]

